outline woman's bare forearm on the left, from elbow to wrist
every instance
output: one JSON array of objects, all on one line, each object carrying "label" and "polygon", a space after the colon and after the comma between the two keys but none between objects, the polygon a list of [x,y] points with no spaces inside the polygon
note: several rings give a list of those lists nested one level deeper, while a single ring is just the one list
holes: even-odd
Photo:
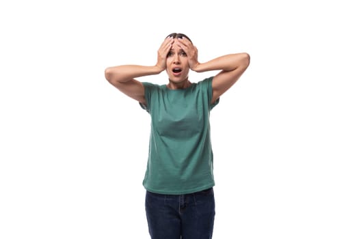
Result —
[{"label": "woman's bare forearm on the left, from elbow to wrist", "polygon": [[107,81],[127,82],[141,76],[159,74],[163,70],[159,66],[122,65],[113,66],[105,70]]}]

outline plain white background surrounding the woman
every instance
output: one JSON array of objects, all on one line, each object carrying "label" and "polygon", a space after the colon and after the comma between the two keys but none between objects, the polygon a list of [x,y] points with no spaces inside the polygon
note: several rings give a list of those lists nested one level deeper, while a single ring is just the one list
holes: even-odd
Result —
[{"label": "plain white background surrounding the woman", "polygon": [[2,1],[0,238],[149,238],[150,118],[104,70],[153,65],[165,36],[181,32],[200,61],[251,56],[211,113],[213,238],[358,239],[355,6]]}]

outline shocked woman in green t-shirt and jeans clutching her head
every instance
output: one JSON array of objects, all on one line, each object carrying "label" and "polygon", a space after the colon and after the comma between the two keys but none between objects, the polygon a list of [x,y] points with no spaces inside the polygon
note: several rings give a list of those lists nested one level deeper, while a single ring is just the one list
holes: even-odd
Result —
[{"label": "shocked woman in green t-shirt and jeans clutching her head", "polygon": [[[247,53],[200,63],[191,40],[185,34],[172,33],[159,47],[155,66],[124,65],[105,70],[107,81],[137,100],[151,116],[143,184],[152,239],[212,238],[215,182],[209,115],[249,64]],[[168,74],[165,85],[136,80],[163,70]],[[191,83],[189,70],[220,72]]]}]

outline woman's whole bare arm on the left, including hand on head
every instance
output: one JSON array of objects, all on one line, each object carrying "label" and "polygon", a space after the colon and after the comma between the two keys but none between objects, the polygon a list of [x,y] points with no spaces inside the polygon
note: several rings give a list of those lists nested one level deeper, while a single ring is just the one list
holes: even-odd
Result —
[{"label": "woman's whole bare arm on the left, including hand on head", "polygon": [[127,96],[146,104],[144,86],[135,78],[159,74],[165,70],[165,59],[170,51],[173,38],[167,38],[157,51],[157,64],[155,66],[122,65],[106,68],[105,78]]}]

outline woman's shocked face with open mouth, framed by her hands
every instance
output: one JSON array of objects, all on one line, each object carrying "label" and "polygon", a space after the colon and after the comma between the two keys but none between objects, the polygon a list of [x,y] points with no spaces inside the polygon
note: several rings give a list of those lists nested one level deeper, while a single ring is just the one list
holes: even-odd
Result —
[{"label": "woman's shocked face with open mouth, framed by her hands", "polygon": [[176,44],[177,41],[177,39],[174,40],[174,44],[167,55],[166,72],[170,81],[181,83],[188,78],[189,64],[187,54]]}]

